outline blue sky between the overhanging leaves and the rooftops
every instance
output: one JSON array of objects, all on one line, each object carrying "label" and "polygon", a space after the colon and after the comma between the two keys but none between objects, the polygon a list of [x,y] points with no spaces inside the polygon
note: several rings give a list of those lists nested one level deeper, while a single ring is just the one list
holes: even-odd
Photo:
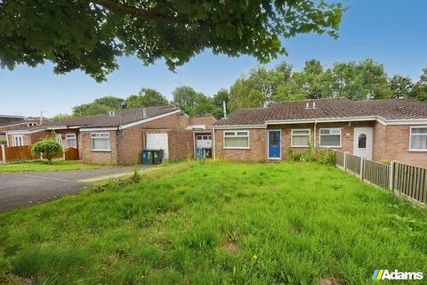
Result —
[{"label": "blue sky between the overhanging leaves and the rooftops", "polygon": [[[425,0],[349,0],[337,40],[315,34],[284,39],[288,56],[281,61],[302,69],[305,61],[318,59],[325,67],[335,61],[361,61],[372,58],[383,63],[389,75],[399,74],[415,81],[427,67],[427,1]],[[138,94],[141,87],[156,89],[172,100],[173,89],[192,86],[197,92],[215,94],[230,88],[234,81],[259,63],[252,57],[230,58],[200,53],[184,66],[169,71],[163,61],[149,67],[134,57],[118,60],[120,67],[108,81],[96,83],[81,71],[55,75],[52,64],[36,68],[20,65],[10,71],[0,69],[0,114],[44,116],[70,114],[73,106],[92,102],[104,95],[125,98]]]}]

